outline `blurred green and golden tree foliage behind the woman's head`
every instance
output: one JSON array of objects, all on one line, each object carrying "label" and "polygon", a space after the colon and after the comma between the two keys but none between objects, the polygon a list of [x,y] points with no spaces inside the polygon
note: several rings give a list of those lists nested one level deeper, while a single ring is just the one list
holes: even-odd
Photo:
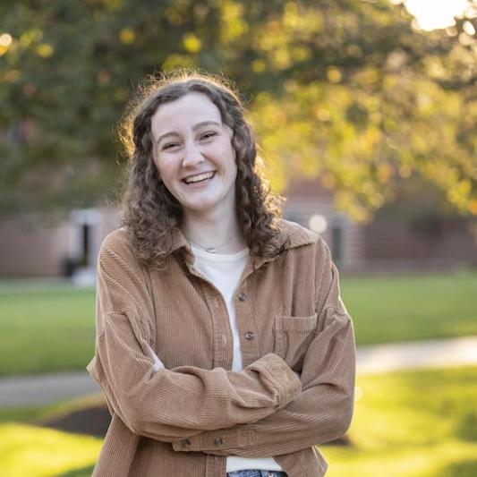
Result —
[{"label": "blurred green and golden tree foliage behind the woman's head", "polygon": [[132,89],[197,66],[245,91],[278,191],[319,175],[365,220],[415,171],[477,214],[469,4],[456,27],[423,32],[388,0],[4,1],[2,209],[103,198],[119,178],[115,124]]}]

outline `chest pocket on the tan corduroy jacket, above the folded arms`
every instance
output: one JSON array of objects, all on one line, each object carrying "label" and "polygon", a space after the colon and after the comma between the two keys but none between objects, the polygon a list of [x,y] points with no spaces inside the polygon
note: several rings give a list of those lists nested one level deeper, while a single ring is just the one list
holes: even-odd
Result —
[{"label": "chest pocket on the tan corduroy jacket, above the folded arms", "polygon": [[306,317],[275,317],[274,353],[278,354],[294,371],[302,370],[304,355],[313,340],[318,314]]}]

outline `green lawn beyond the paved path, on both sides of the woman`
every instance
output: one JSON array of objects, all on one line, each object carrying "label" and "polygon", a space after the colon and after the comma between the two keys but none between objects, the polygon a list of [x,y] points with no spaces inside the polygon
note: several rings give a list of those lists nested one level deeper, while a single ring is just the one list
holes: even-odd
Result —
[{"label": "green lawn beyond the paved path, on both sides of the woman", "polygon": [[[477,273],[342,278],[358,345],[477,335]],[[93,289],[0,281],[0,376],[84,370],[94,353]]]}]

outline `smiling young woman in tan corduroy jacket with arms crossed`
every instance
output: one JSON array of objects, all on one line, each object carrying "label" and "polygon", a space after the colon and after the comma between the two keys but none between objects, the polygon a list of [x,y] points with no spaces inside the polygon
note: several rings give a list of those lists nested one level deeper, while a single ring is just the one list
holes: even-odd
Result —
[{"label": "smiling young woman in tan corduroy jacket with arms crossed", "polygon": [[122,227],[98,258],[98,477],[318,477],[353,414],[353,323],[318,235],[279,217],[233,89],[142,92]]}]

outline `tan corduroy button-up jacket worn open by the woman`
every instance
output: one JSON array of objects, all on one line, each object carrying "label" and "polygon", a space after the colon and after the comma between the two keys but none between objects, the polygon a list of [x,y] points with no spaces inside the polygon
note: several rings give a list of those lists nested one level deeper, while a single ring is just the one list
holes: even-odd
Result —
[{"label": "tan corduroy button-up jacket worn open by the woman", "polygon": [[[160,272],[141,268],[124,229],[106,237],[87,369],[112,422],[93,476],[225,477],[226,456],[272,456],[289,477],[326,473],[316,445],[353,415],[353,323],[324,240],[281,228],[291,247],[250,258],[236,292],[243,371],[230,371],[226,303],[181,232]],[[151,350],[166,369],[154,371]]]}]

